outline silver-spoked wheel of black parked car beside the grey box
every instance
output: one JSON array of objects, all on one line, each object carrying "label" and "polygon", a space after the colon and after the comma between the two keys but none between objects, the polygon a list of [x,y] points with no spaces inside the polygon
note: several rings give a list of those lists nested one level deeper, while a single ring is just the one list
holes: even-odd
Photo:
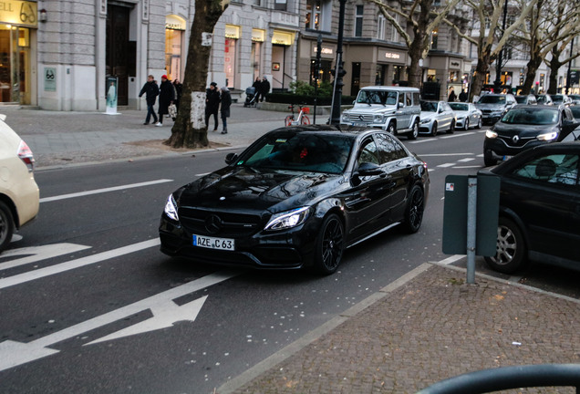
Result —
[{"label": "silver-spoked wheel of black parked car beside the grey box", "polygon": [[512,220],[500,217],[495,251],[494,256],[485,257],[485,262],[495,271],[512,274],[526,263],[523,234]]}]

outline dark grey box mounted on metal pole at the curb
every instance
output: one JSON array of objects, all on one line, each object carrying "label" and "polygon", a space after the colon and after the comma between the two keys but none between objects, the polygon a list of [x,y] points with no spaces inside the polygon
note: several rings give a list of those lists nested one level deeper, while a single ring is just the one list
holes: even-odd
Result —
[{"label": "dark grey box mounted on metal pole at the curb", "polygon": [[477,218],[475,254],[496,253],[497,224],[500,212],[500,178],[478,174],[445,177],[443,212],[443,253],[467,254],[468,194],[470,178],[477,179]]}]

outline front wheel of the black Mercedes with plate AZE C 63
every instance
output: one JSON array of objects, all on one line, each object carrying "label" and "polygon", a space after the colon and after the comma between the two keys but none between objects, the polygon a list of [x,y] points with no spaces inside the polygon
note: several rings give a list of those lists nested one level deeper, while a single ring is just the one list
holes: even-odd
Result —
[{"label": "front wheel of the black Mercedes with plate AZE C 63", "polygon": [[345,250],[345,227],[337,214],[326,216],[316,238],[315,268],[320,274],[337,271]]}]

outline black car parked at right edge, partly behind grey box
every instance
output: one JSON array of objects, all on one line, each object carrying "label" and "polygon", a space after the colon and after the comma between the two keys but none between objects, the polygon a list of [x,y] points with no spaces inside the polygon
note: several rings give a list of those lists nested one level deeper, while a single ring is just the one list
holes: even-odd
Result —
[{"label": "black car parked at right edge, partly behind grey box", "polygon": [[580,269],[580,141],[526,150],[490,170],[500,177],[491,267],[511,274],[529,260]]}]

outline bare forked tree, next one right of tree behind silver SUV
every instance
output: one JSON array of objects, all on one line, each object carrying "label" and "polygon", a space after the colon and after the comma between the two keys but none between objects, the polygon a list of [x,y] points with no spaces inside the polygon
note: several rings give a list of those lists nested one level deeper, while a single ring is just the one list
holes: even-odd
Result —
[{"label": "bare forked tree, next one right of tree behind silver SUV", "polygon": [[[453,24],[450,20],[444,20],[445,23],[455,29],[459,36],[465,38],[477,47],[477,65],[475,66],[475,74],[471,80],[470,101],[473,99],[473,96],[479,95],[482,92],[483,81],[490,69],[490,65],[499,56],[500,51],[502,51],[508,40],[510,40],[515,29],[525,22],[526,16],[529,15],[536,2],[537,0],[520,0],[517,7],[520,15],[514,18],[513,22],[509,26],[506,26],[503,31],[500,16],[502,16],[503,7],[506,5],[505,0],[464,0],[466,5],[471,6],[473,16],[477,21],[477,25],[479,25],[477,36],[470,36],[462,32],[460,27]],[[501,36],[496,36],[496,32],[501,32]]]}]

